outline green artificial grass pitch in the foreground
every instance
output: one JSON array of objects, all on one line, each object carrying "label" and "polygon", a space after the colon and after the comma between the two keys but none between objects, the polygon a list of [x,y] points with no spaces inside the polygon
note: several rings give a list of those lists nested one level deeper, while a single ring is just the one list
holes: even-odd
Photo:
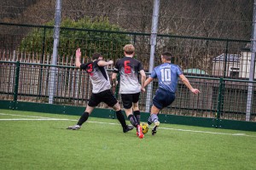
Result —
[{"label": "green artificial grass pitch in the foreground", "polygon": [[256,132],[160,124],[144,139],[116,119],[0,110],[1,169],[255,169]]}]

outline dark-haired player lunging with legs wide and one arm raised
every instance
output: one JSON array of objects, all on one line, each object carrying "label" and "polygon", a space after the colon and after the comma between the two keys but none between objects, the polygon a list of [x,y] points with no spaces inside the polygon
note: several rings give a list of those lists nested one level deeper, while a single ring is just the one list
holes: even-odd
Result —
[{"label": "dark-haired player lunging with legs wide and one arm raised", "polygon": [[87,64],[80,63],[81,51],[80,48],[76,50],[76,67],[85,70],[90,75],[90,81],[92,83],[92,94],[90,96],[88,105],[80,117],[79,122],[67,129],[79,130],[84,122],[87,121],[90,113],[94,108],[99,105],[101,102],[104,102],[110,107],[113,107],[113,110],[116,113],[116,116],[123,127],[123,132],[126,133],[133,129],[133,126],[126,125],[125,116],[121,112],[121,108],[117,99],[115,99],[113,92],[111,90],[111,84],[108,77],[108,72],[106,71],[107,65],[112,65],[113,61],[109,60],[108,62],[103,60],[102,54],[95,53],[92,55],[92,62]]}]

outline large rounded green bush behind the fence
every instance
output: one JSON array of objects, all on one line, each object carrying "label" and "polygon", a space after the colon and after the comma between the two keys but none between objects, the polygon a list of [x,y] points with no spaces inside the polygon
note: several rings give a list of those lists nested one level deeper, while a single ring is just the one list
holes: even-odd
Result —
[{"label": "large rounded green bush behind the fence", "polygon": [[[54,21],[46,26],[48,27],[32,28],[21,41],[20,51],[29,54],[52,54]],[[100,52],[107,59],[117,59],[123,55],[123,46],[131,42],[131,37],[121,31],[119,26],[110,24],[108,19],[102,17],[94,20],[88,17],[77,21],[62,20],[58,54],[60,57],[70,58],[79,47],[86,56]]]}]

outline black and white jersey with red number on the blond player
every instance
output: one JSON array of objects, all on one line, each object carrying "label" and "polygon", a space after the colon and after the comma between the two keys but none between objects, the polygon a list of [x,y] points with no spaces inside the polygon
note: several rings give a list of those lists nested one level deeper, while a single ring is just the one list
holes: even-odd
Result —
[{"label": "black and white jersey with red number on the blond player", "polygon": [[142,70],[141,62],[131,57],[124,57],[116,62],[113,72],[120,74],[119,94],[137,94],[141,91],[138,74]]}]

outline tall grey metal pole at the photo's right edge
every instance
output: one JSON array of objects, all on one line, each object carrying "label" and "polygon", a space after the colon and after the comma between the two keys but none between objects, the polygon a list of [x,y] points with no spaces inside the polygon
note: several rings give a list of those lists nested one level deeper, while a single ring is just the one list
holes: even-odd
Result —
[{"label": "tall grey metal pole at the photo's right edge", "polygon": [[[255,71],[255,53],[256,53],[256,0],[253,3],[253,31],[251,39],[251,64],[250,64],[250,74],[249,81],[254,79]],[[251,111],[252,111],[252,100],[253,100],[253,83],[248,83],[248,93],[247,93],[247,115],[246,121],[250,121]]]}]

